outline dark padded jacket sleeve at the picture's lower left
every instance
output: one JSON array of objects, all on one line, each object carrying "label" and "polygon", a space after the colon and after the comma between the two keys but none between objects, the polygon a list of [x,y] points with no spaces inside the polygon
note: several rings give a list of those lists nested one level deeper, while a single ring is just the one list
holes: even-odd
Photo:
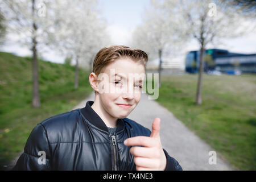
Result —
[{"label": "dark padded jacket sleeve at the picture's lower left", "polygon": [[31,131],[13,170],[51,170],[50,154],[47,132],[39,123]]}]

